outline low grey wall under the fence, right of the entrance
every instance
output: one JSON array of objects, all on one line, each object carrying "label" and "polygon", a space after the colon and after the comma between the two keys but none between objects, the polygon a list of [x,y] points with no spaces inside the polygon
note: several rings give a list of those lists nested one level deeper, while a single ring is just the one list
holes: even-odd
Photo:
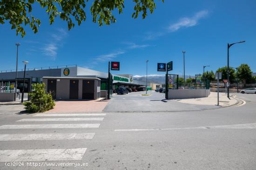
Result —
[{"label": "low grey wall under the fence, right of the entrance", "polygon": [[168,99],[190,99],[208,97],[210,90],[207,89],[168,89]]}]

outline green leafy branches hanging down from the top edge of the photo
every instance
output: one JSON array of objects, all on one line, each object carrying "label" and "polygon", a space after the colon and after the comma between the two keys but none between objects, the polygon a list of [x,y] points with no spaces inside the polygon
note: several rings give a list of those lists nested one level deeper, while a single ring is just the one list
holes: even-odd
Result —
[{"label": "green leafy branches hanging down from the top edge of the photo", "polygon": [[[46,9],[49,15],[49,22],[52,24],[56,17],[67,21],[68,29],[74,27],[75,20],[78,25],[86,20],[85,8],[89,0],[0,0],[0,23],[9,22],[11,29],[16,29],[17,35],[21,33],[24,37],[26,32],[24,25],[29,25],[34,33],[38,31],[41,21],[32,15],[33,5],[39,3],[42,8]],[[164,0],[162,0],[163,2]],[[133,0],[135,3],[134,13],[132,17],[136,19],[140,13],[145,19],[148,10],[153,13],[156,8],[155,0]],[[115,23],[115,16],[112,14],[114,10],[118,10],[119,14],[123,12],[124,0],[94,0],[90,7],[93,22],[98,22],[100,26],[103,24],[110,25]],[[59,10],[60,9],[60,10]]]}]

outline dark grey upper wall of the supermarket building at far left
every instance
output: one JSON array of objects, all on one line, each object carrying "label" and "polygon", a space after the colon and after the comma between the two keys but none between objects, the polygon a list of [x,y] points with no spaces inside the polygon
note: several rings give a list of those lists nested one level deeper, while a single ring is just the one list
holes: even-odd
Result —
[{"label": "dark grey upper wall of the supermarket building at far left", "polygon": [[[0,80],[1,79],[14,79],[16,76],[16,72],[7,72],[7,73],[0,73]],[[24,71],[18,71],[18,78],[23,78]],[[43,77],[43,76],[61,76],[61,69],[42,69],[42,70],[29,70],[26,71],[26,78],[31,77]]]}]

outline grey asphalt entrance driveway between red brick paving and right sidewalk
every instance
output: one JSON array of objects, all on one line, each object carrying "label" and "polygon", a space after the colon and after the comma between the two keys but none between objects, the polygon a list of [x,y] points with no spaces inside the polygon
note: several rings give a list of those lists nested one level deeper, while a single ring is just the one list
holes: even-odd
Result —
[{"label": "grey asphalt entrance driveway between red brick paving and right sidewalk", "polygon": [[114,94],[104,112],[165,112],[165,111],[190,111],[215,108],[216,106],[202,106],[185,104],[175,100],[165,100],[164,93],[148,91],[131,92],[128,94]]}]

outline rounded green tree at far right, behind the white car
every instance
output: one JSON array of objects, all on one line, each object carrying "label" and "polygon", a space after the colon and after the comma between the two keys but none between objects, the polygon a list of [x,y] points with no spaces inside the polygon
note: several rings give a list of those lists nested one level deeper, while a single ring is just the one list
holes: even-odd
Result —
[{"label": "rounded green tree at far right, behind the white car", "polygon": [[243,86],[246,86],[246,81],[252,78],[252,71],[248,64],[241,64],[238,67],[238,78],[243,80]]}]

